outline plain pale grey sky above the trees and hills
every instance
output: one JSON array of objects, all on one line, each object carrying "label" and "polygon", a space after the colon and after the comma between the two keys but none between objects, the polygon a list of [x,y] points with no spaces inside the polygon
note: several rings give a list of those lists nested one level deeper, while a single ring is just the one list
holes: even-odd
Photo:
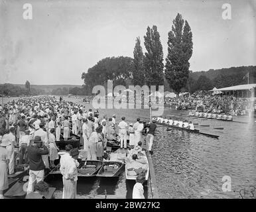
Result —
[{"label": "plain pale grey sky above the trees and hills", "polygon": [[[103,58],[130,56],[137,36],[156,25],[167,54],[177,13],[193,34],[193,72],[255,66],[256,0],[0,0],[0,83],[82,85]],[[23,19],[31,3],[32,19]],[[231,19],[224,20],[224,3]]]}]

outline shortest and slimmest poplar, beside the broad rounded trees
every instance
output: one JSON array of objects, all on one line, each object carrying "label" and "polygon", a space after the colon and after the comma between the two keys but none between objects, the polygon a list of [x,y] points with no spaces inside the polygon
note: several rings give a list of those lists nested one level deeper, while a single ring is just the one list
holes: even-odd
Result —
[{"label": "shortest and slimmest poplar, beside the broad rounded trees", "polygon": [[136,44],[133,50],[133,85],[145,85],[145,68],[144,68],[144,55],[141,47],[141,39],[136,38]]}]

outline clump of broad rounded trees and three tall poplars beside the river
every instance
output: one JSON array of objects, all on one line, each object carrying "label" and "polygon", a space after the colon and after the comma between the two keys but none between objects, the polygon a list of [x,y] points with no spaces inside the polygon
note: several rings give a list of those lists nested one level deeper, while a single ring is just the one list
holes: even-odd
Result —
[{"label": "clump of broad rounded trees and three tall poplars beside the river", "polygon": [[82,73],[84,91],[92,92],[95,85],[105,85],[107,80],[113,80],[115,85],[164,85],[166,81],[177,94],[186,86],[189,76],[193,42],[192,31],[188,21],[182,19],[178,13],[168,32],[168,55],[165,58],[162,52],[160,34],[157,26],[147,27],[144,36],[146,52],[143,53],[141,39],[136,38],[133,58],[117,57],[104,58]]}]

